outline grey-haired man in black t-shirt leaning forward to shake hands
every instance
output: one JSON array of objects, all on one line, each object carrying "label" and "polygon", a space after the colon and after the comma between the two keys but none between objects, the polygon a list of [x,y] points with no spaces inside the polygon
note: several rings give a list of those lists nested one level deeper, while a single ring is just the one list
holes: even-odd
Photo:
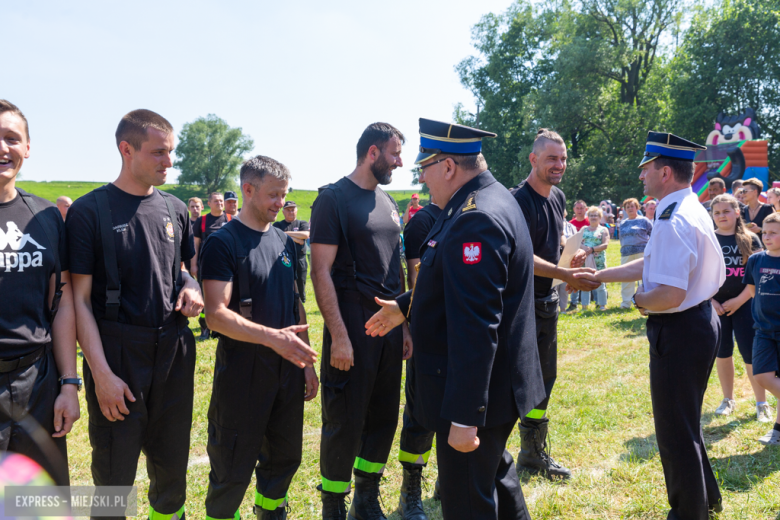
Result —
[{"label": "grey-haired man in black t-shirt leaning forward to shake hands", "polygon": [[245,162],[241,218],[203,246],[206,318],[220,334],[208,414],[207,518],[238,518],[255,468],[258,519],[286,518],[287,489],[301,463],[303,403],[317,395],[317,353],[295,290],[296,244],[271,225],[289,180],[289,170],[270,157]]}]

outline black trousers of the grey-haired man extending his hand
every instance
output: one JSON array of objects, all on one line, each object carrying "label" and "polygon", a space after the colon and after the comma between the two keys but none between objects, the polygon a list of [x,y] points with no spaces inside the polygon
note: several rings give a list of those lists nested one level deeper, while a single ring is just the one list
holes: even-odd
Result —
[{"label": "black trousers of the grey-haired man extending his hand", "polygon": [[206,515],[234,518],[257,476],[255,505],[284,505],[301,464],[303,369],[262,345],[220,337],[209,405]]}]

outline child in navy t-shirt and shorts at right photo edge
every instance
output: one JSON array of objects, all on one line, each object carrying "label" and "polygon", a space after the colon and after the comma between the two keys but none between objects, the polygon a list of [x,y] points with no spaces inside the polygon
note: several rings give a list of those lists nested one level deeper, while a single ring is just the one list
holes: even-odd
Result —
[{"label": "child in navy t-shirt and shorts at right photo edge", "polygon": [[[766,251],[748,259],[744,283],[753,297],[753,377],[780,399],[780,213],[764,219],[762,235]],[[780,446],[780,406],[772,430],[758,441]]]}]

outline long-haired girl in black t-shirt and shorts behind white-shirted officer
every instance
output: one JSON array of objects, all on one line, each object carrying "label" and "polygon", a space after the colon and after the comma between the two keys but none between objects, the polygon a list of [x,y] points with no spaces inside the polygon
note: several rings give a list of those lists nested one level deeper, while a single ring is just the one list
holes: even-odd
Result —
[{"label": "long-haired girl in black t-shirt and shorts behind white-shirted officer", "polygon": [[761,251],[761,241],[745,229],[739,216],[739,203],[731,195],[718,195],[710,206],[717,229],[723,258],[726,262],[726,282],[712,297],[712,305],[720,316],[721,341],[716,358],[718,379],[723,401],[715,410],[718,415],[731,415],[737,407],[734,401],[734,337],[745,361],[745,371],[756,396],[756,418],[772,422],[772,409],[766,402],[766,390],[753,377],[753,315],[750,312],[750,290],[742,284],[745,264],[755,252]]}]

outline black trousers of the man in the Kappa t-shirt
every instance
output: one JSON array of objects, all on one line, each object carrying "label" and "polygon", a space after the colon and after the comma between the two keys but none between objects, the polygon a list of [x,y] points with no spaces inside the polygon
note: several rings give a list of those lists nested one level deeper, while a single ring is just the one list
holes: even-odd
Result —
[{"label": "black trousers of the man in the Kappa t-shirt", "polygon": [[[0,450],[30,457],[57,485],[67,486],[70,479],[65,437],[51,436],[54,401],[60,394],[59,374],[51,347],[44,348],[45,353],[32,365],[0,374]],[[25,416],[35,422],[25,420],[20,424]]]}]

